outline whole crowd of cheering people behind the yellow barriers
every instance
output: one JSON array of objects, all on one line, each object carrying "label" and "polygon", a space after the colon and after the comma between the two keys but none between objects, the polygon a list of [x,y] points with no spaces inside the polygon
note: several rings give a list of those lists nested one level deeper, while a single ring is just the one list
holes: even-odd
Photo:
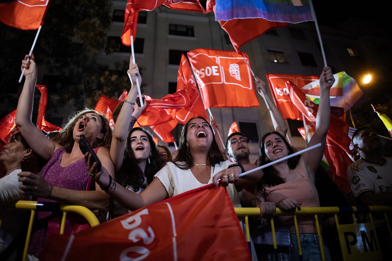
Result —
[{"label": "whole crowd of cheering people behind the yellow barriers", "polygon": [[[113,132],[105,116],[92,109],[84,109],[70,118],[62,132],[48,138],[31,123],[37,80],[33,54],[25,56],[22,69],[25,69],[25,83],[15,121],[20,132],[13,134],[0,152],[0,161],[6,170],[0,179],[0,206],[21,199],[71,203],[91,209],[104,222],[108,218],[207,184],[213,183],[218,187],[218,181],[221,180],[222,185],[227,187],[234,207],[259,207],[261,223],[268,225],[268,218],[276,214],[276,207],[289,212],[300,210],[301,207],[320,207],[320,202],[329,198],[328,193],[332,189],[338,191],[338,188],[332,188],[333,185],[325,186],[332,181],[325,171],[320,170],[330,121],[329,92],[335,81],[329,67],[325,67],[320,76],[316,131],[308,144],[312,146],[321,143],[321,147],[305,152],[299,158],[290,158],[241,178],[239,175],[247,170],[294,153],[285,139],[288,130],[285,120],[270,100],[265,83],[257,77],[256,88],[265,97],[274,131],[263,136],[258,161],[252,164],[248,140],[241,132],[234,132],[227,138],[227,150],[223,152],[214,135],[219,131],[218,124],[216,121],[210,123],[201,116],[185,124],[179,137],[178,150],[173,156],[165,146],[154,143],[148,130],[134,127],[147,103],[143,106],[135,103],[136,80],[141,83],[142,78],[132,59],[127,71],[132,86]],[[82,134],[101,161],[99,171],[93,156],[89,153],[83,155],[79,149]],[[361,156],[348,170],[348,181],[357,202],[361,205],[392,205],[392,177],[389,173],[392,163],[390,159],[381,156],[379,137],[370,128],[363,127],[354,133],[352,141],[354,149]],[[21,170],[21,160],[31,154],[36,154],[46,162],[38,168],[38,174]],[[323,180],[324,185],[317,185],[318,180]],[[341,196],[331,204],[348,205],[343,201],[345,197]],[[58,213],[38,212],[37,215],[29,260],[39,259],[47,238],[56,233],[60,221]],[[24,229],[16,224],[25,218],[19,212],[7,212],[3,218],[0,257],[5,255]],[[325,220],[330,219],[326,217]],[[321,260],[313,217],[298,217],[297,222],[303,258]],[[87,224],[73,216],[67,218],[67,223],[68,231],[65,233],[68,234],[88,228]],[[293,217],[280,216],[277,223],[289,228],[291,241],[291,247],[280,252],[279,260],[298,260]],[[377,235],[385,232],[385,229],[382,230],[382,219],[377,219],[375,224],[380,228]],[[387,237],[387,234],[383,236]],[[324,242],[323,245],[325,260],[332,260]],[[257,254],[253,256],[254,260],[275,260],[274,252],[270,249],[256,250],[253,251]],[[334,260],[339,258],[334,251],[331,254]]]}]

